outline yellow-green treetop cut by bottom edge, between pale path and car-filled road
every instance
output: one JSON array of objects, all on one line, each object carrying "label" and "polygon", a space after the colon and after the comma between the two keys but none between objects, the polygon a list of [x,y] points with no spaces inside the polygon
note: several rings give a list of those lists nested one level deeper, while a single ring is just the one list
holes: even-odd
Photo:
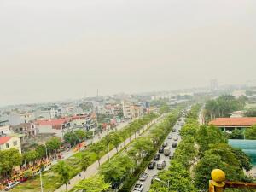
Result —
[{"label": "yellow-green treetop cut by bottom edge, between pale path and car-filled road", "polygon": [[102,192],[108,190],[109,187],[110,184],[104,182],[104,177],[96,175],[79,182],[79,184],[75,186],[75,189],[84,190],[86,192]]}]

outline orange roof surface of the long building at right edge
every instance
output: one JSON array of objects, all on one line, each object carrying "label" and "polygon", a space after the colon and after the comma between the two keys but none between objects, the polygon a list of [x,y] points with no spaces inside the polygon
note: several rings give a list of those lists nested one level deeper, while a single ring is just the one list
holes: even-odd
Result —
[{"label": "orange roof surface of the long building at right edge", "polygon": [[252,126],[256,125],[256,118],[242,117],[242,118],[217,118],[212,120],[209,125],[215,126]]}]

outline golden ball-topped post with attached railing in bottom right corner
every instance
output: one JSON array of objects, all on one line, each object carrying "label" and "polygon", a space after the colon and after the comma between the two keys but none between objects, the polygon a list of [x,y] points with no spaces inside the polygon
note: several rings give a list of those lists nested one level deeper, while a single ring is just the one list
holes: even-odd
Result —
[{"label": "golden ball-topped post with attached railing in bottom right corner", "polygon": [[256,183],[226,181],[226,175],[220,169],[214,169],[211,176],[212,180],[209,181],[209,192],[224,192],[225,188],[256,189]]}]

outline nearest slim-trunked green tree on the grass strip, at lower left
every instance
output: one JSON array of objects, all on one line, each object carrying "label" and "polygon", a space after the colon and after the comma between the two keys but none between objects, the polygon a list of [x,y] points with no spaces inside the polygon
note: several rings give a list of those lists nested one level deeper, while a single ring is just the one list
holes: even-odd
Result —
[{"label": "nearest slim-trunked green tree on the grass strip, at lower left", "polygon": [[53,166],[53,170],[61,177],[61,183],[65,183],[67,191],[67,184],[71,178],[71,167],[65,161],[61,160]]}]

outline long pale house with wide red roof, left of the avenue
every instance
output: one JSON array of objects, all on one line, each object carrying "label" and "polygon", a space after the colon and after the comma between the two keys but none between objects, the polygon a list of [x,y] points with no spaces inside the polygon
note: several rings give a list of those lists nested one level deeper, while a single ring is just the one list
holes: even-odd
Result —
[{"label": "long pale house with wide red roof, left of the avenue", "polygon": [[64,131],[70,127],[70,118],[37,120],[35,125],[40,133],[55,133],[63,137]]}]

